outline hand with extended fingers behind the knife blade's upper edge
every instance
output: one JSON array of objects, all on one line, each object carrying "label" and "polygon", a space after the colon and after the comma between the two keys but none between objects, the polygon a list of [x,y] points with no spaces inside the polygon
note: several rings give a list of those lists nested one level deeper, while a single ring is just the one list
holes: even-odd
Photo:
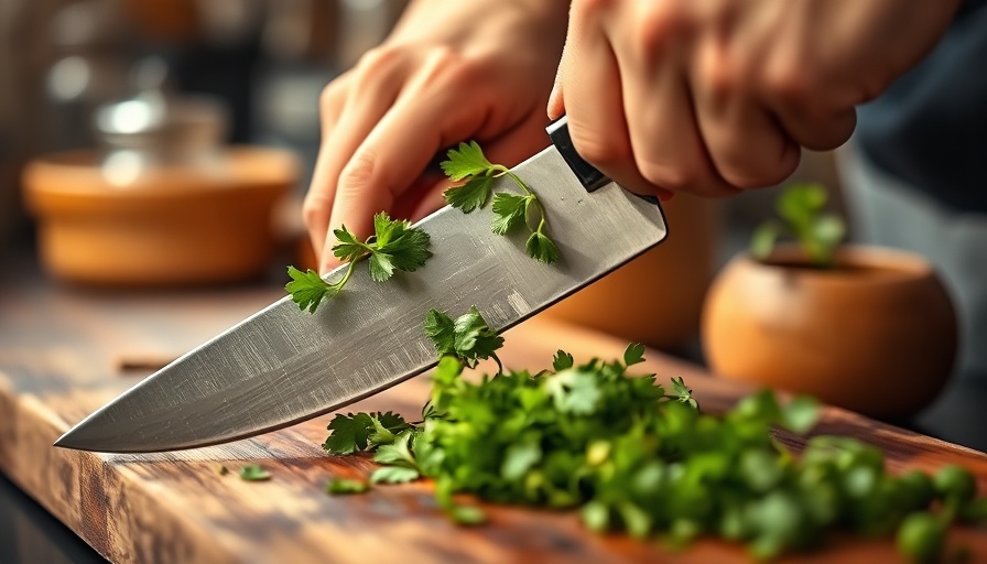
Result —
[{"label": "hand with extended fingers behind the knife blade's upper edge", "polygon": [[322,144],[303,217],[319,272],[332,229],[370,235],[373,214],[416,219],[444,182],[443,148],[476,139],[512,165],[547,144],[544,107],[565,37],[561,0],[415,0],[391,35],[322,95]]}]

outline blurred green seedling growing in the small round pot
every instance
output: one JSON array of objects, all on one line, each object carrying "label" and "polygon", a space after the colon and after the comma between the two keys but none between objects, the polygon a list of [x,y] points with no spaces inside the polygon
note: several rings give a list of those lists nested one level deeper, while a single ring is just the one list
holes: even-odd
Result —
[{"label": "blurred green seedling growing in the small round pot", "polygon": [[779,237],[793,237],[809,260],[826,267],[833,262],[836,248],[846,236],[846,225],[836,215],[825,214],[828,194],[820,184],[793,184],[778,197],[776,210],[780,220],[761,224],[750,240],[750,251],[766,260]]}]

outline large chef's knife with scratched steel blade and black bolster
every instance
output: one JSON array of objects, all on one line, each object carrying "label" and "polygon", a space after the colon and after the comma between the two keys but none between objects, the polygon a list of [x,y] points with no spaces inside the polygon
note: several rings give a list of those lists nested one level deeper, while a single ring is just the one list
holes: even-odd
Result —
[{"label": "large chef's knife with scratched steel blade and black bolster", "polygon": [[[193,448],[265,433],[375,394],[436,364],[423,322],[476,305],[507,329],[661,242],[661,207],[575,152],[565,119],[553,144],[513,169],[550,219],[561,260],[490,231],[486,210],[445,207],[419,227],[433,257],[388,282],[357,269],[314,314],[285,296],[151,375],[69,430],[56,446],[113,453]],[[506,187],[506,178],[494,189]],[[335,279],[338,272],[328,278]],[[628,299],[631,299],[628,296]]]}]

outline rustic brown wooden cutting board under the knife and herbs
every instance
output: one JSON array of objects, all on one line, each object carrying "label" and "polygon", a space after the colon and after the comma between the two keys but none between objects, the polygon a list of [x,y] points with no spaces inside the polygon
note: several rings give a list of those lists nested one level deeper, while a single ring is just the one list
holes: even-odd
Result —
[{"label": "rustic brown wooden cutting board under the knife and herbs", "polygon": [[[364,478],[365,457],[321,448],[330,416],[264,436],[195,451],[107,455],[53,448],[72,424],[155,365],[210,338],[282,295],[252,289],[120,293],[64,288],[36,272],[4,273],[0,285],[0,470],[113,562],[746,562],[742,547],[702,541],[684,552],[657,542],[585,530],[571,512],[490,507],[488,524],[459,528],[437,510],[427,482],[329,497],[333,477]],[[39,280],[41,282],[39,283]],[[546,368],[557,348],[577,360],[618,357],[626,343],[531,319],[506,334],[507,366]],[[650,351],[662,379],[683,376],[707,411],[749,390]],[[127,368],[127,367],[131,368]],[[419,413],[419,377],[349,408]],[[987,456],[865,417],[827,409],[821,432],[879,445],[893,470],[966,465],[987,491]],[[793,443],[798,448],[798,441]],[[273,475],[246,482],[236,470]],[[220,475],[225,465],[232,470]],[[987,531],[957,529],[952,545],[987,562]],[[791,562],[896,562],[890,540],[835,536],[827,550]]]}]

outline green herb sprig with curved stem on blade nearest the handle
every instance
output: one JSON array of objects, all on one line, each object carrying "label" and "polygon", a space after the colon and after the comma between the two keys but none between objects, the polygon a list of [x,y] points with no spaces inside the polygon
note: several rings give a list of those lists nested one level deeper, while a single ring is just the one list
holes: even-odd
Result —
[{"label": "green herb sprig with curved stem on blade nearest the handle", "polygon": [[443,197],[448,205],[465,214],[486,207],[494,192],[495,178],[508,176],[522,193],[494,194],[490,230],[506,235],[523,225],[530,232],[524,246],[528,256],[545,263],[558,260],[558,247],[547,234],[545,209],[524,181],[507,166],[488,161],[476,141],[459,143],[458,149],[451,149],[447,156],[448,160],[440,163],[445,174],[456,182],[466,180],[464,184],[445,191]]}]

